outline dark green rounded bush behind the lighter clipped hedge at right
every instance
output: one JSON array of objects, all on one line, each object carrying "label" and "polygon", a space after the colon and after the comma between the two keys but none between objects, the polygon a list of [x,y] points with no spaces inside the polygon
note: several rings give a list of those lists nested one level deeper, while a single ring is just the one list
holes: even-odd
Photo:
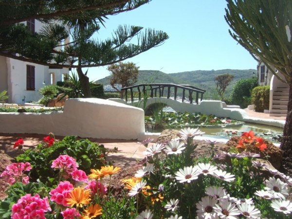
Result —
[{"label": "dark green rounded bush behind the lighter clipped hedge at right", "polygon": [[251,104],[251,92],[257,86],[257,78],[245,78],[236,82],[231,92],[231,101],[240,108]]}]

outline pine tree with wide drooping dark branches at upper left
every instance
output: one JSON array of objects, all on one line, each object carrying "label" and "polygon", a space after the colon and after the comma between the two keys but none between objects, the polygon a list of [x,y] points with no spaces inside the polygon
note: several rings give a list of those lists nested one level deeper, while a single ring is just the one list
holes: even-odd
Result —
[{"label": "pine tree with wide drooping dark branches at upper left", "polygon": [[[89,78],[82,68],[114,64],[161,45],[162,31],[120,25],[111,39],[93,39],[110,15],[133,10],[150,0],[0,0],[0,55],[57,68],[76,68],[84,96]],[[30,32],[23,21],[45,26]],[[21,23],[22,22],[22,23]],[[70,41],[68,42],[68,37]],[[131,43],[136,38],[136,44]]]}]

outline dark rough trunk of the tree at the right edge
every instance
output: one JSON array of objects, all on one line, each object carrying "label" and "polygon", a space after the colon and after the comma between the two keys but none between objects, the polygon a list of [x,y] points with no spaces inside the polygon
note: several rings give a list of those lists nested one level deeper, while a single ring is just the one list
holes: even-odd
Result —
[{"label": "dark rough trunk of the tree at the right edge", "polygon": [[281,170],[292,175],[292,77],[290,79],[288,112],[280,147],[283,151]]}]

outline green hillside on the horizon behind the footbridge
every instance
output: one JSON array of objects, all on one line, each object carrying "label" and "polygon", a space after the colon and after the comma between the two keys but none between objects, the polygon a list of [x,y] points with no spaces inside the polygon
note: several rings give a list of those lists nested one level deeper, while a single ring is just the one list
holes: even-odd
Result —
[{"label": "green hillside on the horizon behind the footbridge", "polygon": [[[142,70],[139,71],[138,82],[136,84],[148,84],[148,83],[170,83],[170,84],[188,84],[195,87],[206,90],[204,97],[206,99],[217,99],[217,91],[214,82],[214,78],[219,74],[229,73],[234,76],[234,80],[227,87],[225,96],[229,96],[233,85],[237,80],[241,78],[252,77],[253,72],[256,73],[255,69],[249,70],[211,70],[211,71],[191,71],[181,73],[163,73],[160,71]],[[110,76],[105,77],[96,81],[104,85],[110,84]]]}]

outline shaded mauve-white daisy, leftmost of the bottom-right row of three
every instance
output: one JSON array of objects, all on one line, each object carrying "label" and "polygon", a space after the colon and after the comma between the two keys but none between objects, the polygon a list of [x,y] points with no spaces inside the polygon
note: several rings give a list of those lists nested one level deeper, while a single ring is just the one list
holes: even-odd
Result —
[{"label": "shaded mauve-white daisy, leftmost of the bottom-right row of three", "polygon": [[205,196],[202,197],[199,203],[196,203],[197,206],[197,215],[199,218],[210,218],[215,216],[216,212],[214,206],[217,203],[217,199],[214,197]]}]

